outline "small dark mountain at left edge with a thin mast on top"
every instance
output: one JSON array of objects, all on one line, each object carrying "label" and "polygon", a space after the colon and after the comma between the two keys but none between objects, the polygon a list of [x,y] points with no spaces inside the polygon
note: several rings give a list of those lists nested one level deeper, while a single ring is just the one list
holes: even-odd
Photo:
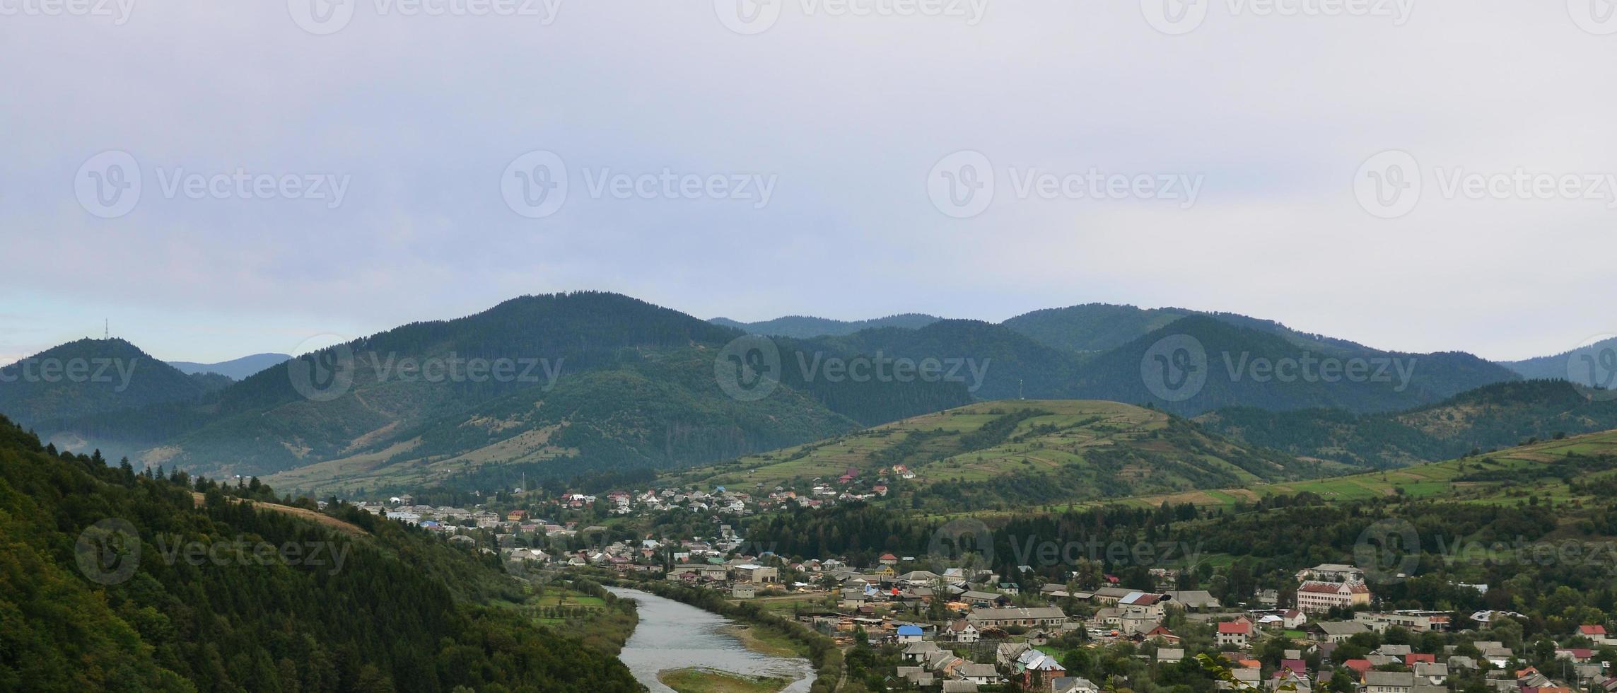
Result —
[{"label": "small dark mountain at left edge with a thin mast on top", "polygon": [[23,425],[184,402],[220,389],[123,339],[79,339],[0,368],[0,414]]}]

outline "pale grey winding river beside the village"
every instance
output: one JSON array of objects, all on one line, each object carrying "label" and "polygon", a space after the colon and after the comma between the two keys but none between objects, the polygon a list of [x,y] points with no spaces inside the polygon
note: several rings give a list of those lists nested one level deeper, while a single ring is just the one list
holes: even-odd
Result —
[{"label": "pale grey winding river beside the village", "polygon": [[813,666],[802,657],[771,657],[741,645],[723,632],[733,620],[640,590],[611,588],[613,594],[634,599],[640,625],[618,656],[634,678],[653,693],[673,693],[657,680],[668,669],[707,667],[749,677],[794,680],[786,693],[805,693],[813,685]]}]

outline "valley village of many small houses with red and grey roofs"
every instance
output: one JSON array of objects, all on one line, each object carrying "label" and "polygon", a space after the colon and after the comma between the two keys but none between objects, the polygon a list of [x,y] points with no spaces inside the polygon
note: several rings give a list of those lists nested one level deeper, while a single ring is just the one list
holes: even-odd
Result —
[{"label": "valley village of many small houses with red and grey roofs", "polygon": [[[1172,683],[1192,675],[1218,690],[1302,693],[1617,691],[1609,670],[1617,638],[1606,624],[1581,624],[1554,643],[1525,643],[1512,620],[1520,614],[1386,609],[1363,570],[1345,564],[1302,567],[1294,591],[1260,590],[1250,603],[1222,604],[1206,590],[1156,590],[1176,582],[1177,570],[1166,567],[1150,570],[1151,586],[1104,575],[1083,588],[1074,572],[1069,583],[1033,588],[1025,577],[891,552],[872,565],[789,561],[758,551],[728,523],[707,538],[611,541],[621,531],[608,525],[412,501],[395,496],[359,507],[498,552],[513,569],[610,572],[760,603],[844,649],[886,654],[894,690],[1100,693],[1140,688],[1130,677]],[[566,494],[548,504],[593,517],[689,509],[723,520],[817,501],[775,494],[762,502],[724,489],[660,489]],[[1455,628],[1457,620],[1465,628]],[[1114,656],[1127,666],[1104,664]]]}]

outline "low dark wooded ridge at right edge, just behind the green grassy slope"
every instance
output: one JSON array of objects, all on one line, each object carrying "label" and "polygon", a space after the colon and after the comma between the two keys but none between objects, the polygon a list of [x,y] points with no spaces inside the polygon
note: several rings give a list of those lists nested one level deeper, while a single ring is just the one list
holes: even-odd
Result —
[{"label": "low dark wooded ridge at right edge, just behind the green grassy slope", "polygon": [[1560,380],[1496,383],[1394,414],[1232,407],[1197,418],[1210,430],[1294,456],[1405,467],[1510,447],[1526,439],[1617,428],[1617,401]]}]

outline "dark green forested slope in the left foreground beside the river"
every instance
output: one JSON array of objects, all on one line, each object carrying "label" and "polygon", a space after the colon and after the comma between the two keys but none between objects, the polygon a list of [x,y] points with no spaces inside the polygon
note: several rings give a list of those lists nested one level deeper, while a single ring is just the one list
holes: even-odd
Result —
[{"label": "dark green forested slope in the left foreground beside the river", "polygon": [[524,599],[496,557],[270,499],[58,456],[0,417],[0,690],[640,690],[610,654],[485,606]]}]

